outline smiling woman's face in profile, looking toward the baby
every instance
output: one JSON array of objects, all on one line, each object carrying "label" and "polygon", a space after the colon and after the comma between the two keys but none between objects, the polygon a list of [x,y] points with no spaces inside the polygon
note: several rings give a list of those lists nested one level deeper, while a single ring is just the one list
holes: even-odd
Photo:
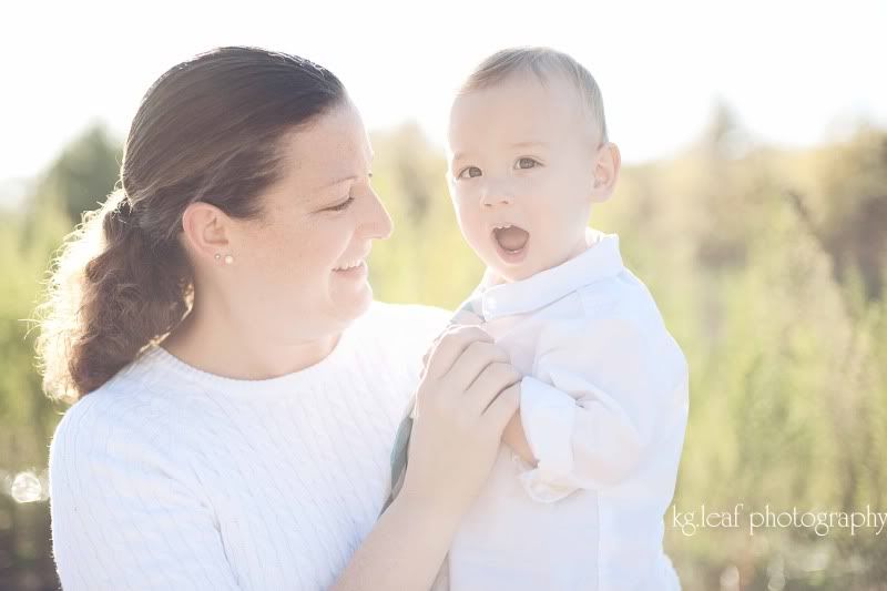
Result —
[{"label": "smiling woman's face in profile, looking toward the baby", "polygon": [[366,310],[366,258],[391,220],[370,185],[373,150],[350,101],[282,146],[284,175],[234,254],[239,297],[263,313],[265,330],[292,343],[339,332]]}]

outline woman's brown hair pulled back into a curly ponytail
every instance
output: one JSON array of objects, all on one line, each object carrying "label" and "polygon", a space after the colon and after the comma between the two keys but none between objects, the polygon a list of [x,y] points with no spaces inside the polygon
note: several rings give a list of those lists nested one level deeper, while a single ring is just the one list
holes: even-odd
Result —
[{"label": "woman's brown hair pulled back into a curly ponytail", "polygon": [[161,75],[132,121],[119,187],[51,266],[38,307],[47,394],[75,401],[170,333],[193,293],[179,242],[185,208],[204,201],[259,217],[284,135],[346,100],[328,70],[257,48],[215,49]]}]

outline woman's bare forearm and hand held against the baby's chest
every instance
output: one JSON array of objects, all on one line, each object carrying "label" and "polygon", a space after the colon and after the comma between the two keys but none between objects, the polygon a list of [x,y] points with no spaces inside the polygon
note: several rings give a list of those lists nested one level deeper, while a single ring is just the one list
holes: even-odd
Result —
[{"label": "woman's bare forearm and hand held against the baby's chest", "polygon": [[489,478],[521,376],[477,326],[450,326],[428,355],[402,487],[334,589],[429,589]]}]

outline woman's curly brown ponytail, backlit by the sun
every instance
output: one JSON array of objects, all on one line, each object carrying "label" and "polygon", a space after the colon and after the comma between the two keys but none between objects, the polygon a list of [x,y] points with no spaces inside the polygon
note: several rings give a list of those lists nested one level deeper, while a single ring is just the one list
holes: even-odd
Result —
[{"label": "woman's curly brown ponytail, backlit by the sun", "polygon": [[74,401],[184,317],[191,285],[181,246],[139,227],[123,190],[65,238],[38,316],[43,387]]}]

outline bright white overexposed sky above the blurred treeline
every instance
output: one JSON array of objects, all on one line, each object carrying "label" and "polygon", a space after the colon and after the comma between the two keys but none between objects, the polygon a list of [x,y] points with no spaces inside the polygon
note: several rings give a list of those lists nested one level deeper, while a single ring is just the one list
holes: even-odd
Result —
[{"label": "bright white overexposed sky above the blurred treeline", "polygon": [[12,6],[0,26],[0,182],[39,172],[95,120],[123,137],[161,73],[223,44],[309,58],[345,82],[368,128],[415,119],[437,143],[452,88],[516,44],[564,50],[591,70],[629,163],[693,141],[717,99],[779,144],[863,120],[887,126],[884,0]]}]

